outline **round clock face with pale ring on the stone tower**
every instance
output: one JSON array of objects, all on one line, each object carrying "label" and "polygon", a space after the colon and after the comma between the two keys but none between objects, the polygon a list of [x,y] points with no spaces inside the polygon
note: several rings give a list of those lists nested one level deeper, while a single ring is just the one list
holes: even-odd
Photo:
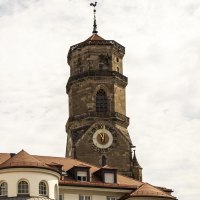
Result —
[{"label": "round clock face with pale ring on the stone tower", "polygon": [[90,135],[92,136],[92,147],[95,151],[105,153],[113,148],[116,143],[115,129],[109,125],[96,124],[91,129]]}]

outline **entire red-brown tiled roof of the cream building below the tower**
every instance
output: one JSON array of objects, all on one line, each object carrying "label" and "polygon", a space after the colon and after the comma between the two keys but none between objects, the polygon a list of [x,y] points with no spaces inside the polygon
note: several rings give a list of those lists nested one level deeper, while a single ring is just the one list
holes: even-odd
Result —
[{"label": "entire red-brown tiled roof of the cream building below the tower", "polygon": [[[3,162],[4,161],[4,162]],[[100,168],[94,165],[90,165],[89,163],[85,163],[72,158],[64,158],[64,157],[52,157],[52,156],[38,156],[38,155],[30,155],[24,150],[20,151],[13,157],[10,157],[10,154],[0,154],[0,169],[13,167],[13,166],[31,166],[31,167],[41,167],[54,169],[50,165],[62,166],[62,170],[68,171],[74,166],[81,167],[89,167],[91,173],[91,181],[90,182],[81,182],[74,180],[70,175],[65,176],[60,180],[60,184],[63,186],[85,186],[85,187],[103,187],[103,188],[119,188],[119,189],[130,189],[132,192],[128,195],[129,197],[163,197],[168,199],[176,199],[175,197],[167,194],[162,189],[159,189],[155,186],[152,186],[148,183],[143,183],[141,181],[117,174],[117,183],[104,183],[97,176],[95,176],[95,172]],[[104,168],[110,168],[109,166],[105,166]],[[124,197],[122,199],[126,199]]]}]

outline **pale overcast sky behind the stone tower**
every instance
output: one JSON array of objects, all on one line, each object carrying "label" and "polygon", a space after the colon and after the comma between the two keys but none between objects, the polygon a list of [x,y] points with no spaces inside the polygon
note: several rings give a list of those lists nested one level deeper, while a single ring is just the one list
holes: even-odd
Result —
[{"label": "pale overcast sky behind the stone tower", "polygon": [[[71,45],[89,0],[0,0],[0,152],[64,156]],[[99,0],[99,35],[126,47],[129,133],[143,178],[200,196],[200,0]]]}]

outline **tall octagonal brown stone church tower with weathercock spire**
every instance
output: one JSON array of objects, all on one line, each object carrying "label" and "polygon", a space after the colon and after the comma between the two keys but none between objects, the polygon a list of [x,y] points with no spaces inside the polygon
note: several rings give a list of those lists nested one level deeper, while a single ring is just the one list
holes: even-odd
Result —
[{"label": "tall octagonal brown stone church tower with weathercock spire", "polygon": [[133,144],[127,130],[125,48],[97,34],[96,3],[91,5],[94,6],[93,34],[71,46],[68,52],[66,156],[97,166],[109,165],[135,177]]}]

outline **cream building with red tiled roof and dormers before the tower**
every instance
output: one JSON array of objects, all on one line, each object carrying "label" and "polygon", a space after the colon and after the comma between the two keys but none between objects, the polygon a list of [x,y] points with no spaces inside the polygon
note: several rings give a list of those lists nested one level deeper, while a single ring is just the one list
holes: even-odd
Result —
[{"label": "cream building with red tiled roof and dormers before the tower", "polygon": [[66,157],[0,153],[1,200],[175,200],[172,190]]}]

